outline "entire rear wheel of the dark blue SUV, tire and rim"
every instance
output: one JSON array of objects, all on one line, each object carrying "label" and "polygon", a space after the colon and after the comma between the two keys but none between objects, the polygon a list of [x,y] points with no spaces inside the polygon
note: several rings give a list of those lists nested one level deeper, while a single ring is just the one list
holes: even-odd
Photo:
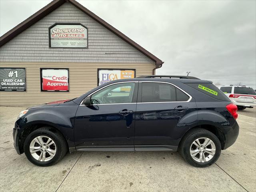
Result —
[{"label": "entire rear wheel of the dark blue SUV, tire and rim", "polygon": [[196,128],[182,139],[179,152],[192,166],[207,167],[218,160],[221,144],[212,132]]}]

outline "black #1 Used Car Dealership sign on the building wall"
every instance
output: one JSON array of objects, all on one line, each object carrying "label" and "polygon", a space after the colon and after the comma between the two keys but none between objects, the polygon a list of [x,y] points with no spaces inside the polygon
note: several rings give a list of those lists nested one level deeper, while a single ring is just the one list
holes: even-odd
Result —
[{"label": "black #1 Used Car Dealership sign on the building wall", "polygon": [[25,68],[0,68],[0,91],[26,91]]}]

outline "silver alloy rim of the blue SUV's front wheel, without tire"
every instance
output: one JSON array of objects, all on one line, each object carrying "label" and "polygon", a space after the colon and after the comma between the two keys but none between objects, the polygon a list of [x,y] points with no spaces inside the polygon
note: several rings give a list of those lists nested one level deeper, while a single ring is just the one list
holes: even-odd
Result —
[{"label": "silver alloy rim of the blue SUV's front wheel, without tire", "polygon": [[37,136],[30,142],[30,154],[38,161],[49,161],[56,154],[56,144],[48,136]]}]

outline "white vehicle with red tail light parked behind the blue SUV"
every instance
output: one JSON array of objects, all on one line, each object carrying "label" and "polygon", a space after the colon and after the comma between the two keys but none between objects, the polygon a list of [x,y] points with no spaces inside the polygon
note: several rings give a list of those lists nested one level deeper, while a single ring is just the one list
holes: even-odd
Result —
[{"label": "white vehicle with red tail light parked behind the blue SUV", "polygon": [[236,104],[238,110],[256,106],[256,92],[251,87],[239,85],[217,85],[216,87]]}]

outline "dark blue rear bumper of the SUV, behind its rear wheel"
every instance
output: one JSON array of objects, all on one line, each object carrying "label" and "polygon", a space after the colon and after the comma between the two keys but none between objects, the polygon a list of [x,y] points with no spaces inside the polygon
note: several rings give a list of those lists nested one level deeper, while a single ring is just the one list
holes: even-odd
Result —
[{"label": "dark blue rear bumper of the SUV, behind its rear wheel", "polygon": [[232,146],[234,142],[236,142],[239,134],[239,125],[235,121],[232,127],[222,129],[222,132],[225,136],[225,144],[223,149],[227,149],[228,147]]}]

